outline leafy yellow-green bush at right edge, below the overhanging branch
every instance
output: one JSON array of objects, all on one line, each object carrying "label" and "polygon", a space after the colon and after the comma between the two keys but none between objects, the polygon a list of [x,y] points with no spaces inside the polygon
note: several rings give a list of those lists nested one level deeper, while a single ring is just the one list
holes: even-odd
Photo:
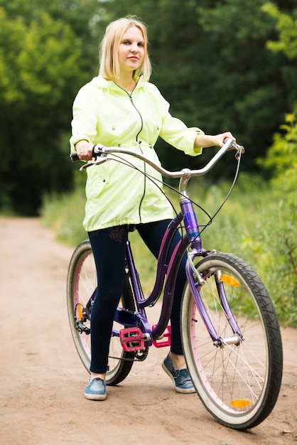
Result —
[{"label": "leafy yellow-green bush at right edge, below the overhanging branch", "polygon": [[[269,269],[271,281],[279,303],[288,309],[288,323],[296,321],[297,304],[297,123],[294,114],[286,115],[281,125],[282,134],[274,135],[274,144],[266,159],[259,159],[264,168],[273,172],[271,186],[275,200],[269,204],[270,215],[261,236],[264,244],[269,240],[273,267]],[[290,312],[291,311],[291,312]]]}]

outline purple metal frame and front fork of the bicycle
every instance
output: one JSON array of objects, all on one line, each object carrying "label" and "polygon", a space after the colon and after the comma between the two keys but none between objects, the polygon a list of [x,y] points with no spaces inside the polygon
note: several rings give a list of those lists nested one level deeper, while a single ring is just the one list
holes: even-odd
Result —
[{"label": "purple metal frame and front fork of the bicycle", "polygon": [[[169,318],[171,316],[171,309],[173,304],[173,292],[175,288],[175,281],[178,274],[178,268],[180,266],[180,261],[183,257],[183,254],[186,252],[189,245],[191,245],[191,252],[188,254],[188,260],[185,266],[185,272],[188,278],[188,284],[190,285],[190,290],[193,294],[193,298],[195,299],[195,304],[198,307],[198,311],[200,312],[200,316],[205,323],[205,327],[207,328],[212,341],[216,345],[220,345],[221,341],[217,335],[215,327],[212,324],[210,316],[205,310],[205,306],[202,303],[202,299],[200,298],[197,282],[195,282],[193,269],[191,267],[191,262],[195,257],[206,257],[209,255],[209,252],[202,249],[202,241],[199,234],[198,222],[196,219],[195,211],[193,209],[193,204],[188,198],[183,197],[180,202],[181,213],[178,214],[176,218],[174,218],[171,223],[168,225],[166,232],[163,236],[160,253],[158,256],[158,264],[156,271],[156,281],[153,286],[153,291],[148,296],[148,298],[144,299],[141,285],[139,282],[139,275],[136,271],[136,267],[134,264],[133,255],[131,252],[131,246],[129,241],[126,245],[126,262],[129,267],[131,284],[134,291],[134,296],[137,301],[137,306],[139,309],[138,313],[134,315],[139,319],[146,333],[151,336],[152,340],[156,340],[159,338],[163,332],[166,330],[168,325]],[[166,260],[168,258],[168,250],[171,245],[171,240],[176,230],[178,230],[178,226],[181,221],[185,223],[186,233],[181,237],[178,244],[175,246],[173,253],[166,264]],[[165,278],[165,276],[167,277]],[[158,301],[159,296],[161,295],[161,291],[163,288],[163,284],[165,281],[164,292],[163,292],[163,302],[161,308],[161,314],[153,331],[151,331],[150,326],[148,325],[148,321],[146,318],[145,308],[148,306],[153,306]],[[230,325],[232,326],[232,330],[234,333],[237,333],[242,337],[242,334],[237,326],[237,323],[232,315],[232,311],[229,309],[229,304],[227,302],[227,298],[224,291],[224,286],[222,284],[217,284],[218,291],[221,298],[222,308],[224,309],[227,318],[229,320]],[[131,311],[125,311],[127,315],[131,314]],[[147,345],[151,345],[151,341],[148,341]]]}]

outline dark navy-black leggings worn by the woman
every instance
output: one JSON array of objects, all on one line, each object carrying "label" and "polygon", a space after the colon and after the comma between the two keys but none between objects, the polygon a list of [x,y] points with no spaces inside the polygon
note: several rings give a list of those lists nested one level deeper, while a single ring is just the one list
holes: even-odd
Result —
[{"label": "dark navy-black leggings worn by the woman", "polygon": [[[139,235],[149,250],[157,258],[162,238],[170,220],[136,226]],[[114,313],[124,286],[124,267],[128,227],[121,225],[108,229],[89,232],[92,251],[97,268],[97,295],[92,307],[91,317],[91,365],[90,371],[98,374],[107,372],[109,341],[112,333]],[[180,240],[177,232],[173,238],[170,252]],[[171,351],[183,354],[180,338],[180,299],[185,286],[184,255],[178,271],[171,311]]]}]

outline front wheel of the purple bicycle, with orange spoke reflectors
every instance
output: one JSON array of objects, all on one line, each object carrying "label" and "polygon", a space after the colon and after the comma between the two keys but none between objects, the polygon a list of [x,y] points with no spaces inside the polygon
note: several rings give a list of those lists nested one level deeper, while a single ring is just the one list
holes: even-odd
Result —
[{"label": "front wheel of the purple bicycle, with orange spoke reflectors", "polygon": [[[283,353],[274,306],[257,273],[233,254],[211,254],[195,267],[204,279],[197,284],[202,303],[222,344],[214,345],[187,284],[181,330],[193,385],[218,422],[232,429],[255,427],[274,408],[281,387]],[[220,286],[243,336],[235,344]]]}]

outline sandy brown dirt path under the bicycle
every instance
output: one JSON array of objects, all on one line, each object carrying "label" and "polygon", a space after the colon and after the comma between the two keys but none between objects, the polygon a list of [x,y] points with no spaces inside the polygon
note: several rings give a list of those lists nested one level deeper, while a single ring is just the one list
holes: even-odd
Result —
[{"label": "sandy brown dirt path under the bicycle", "polygon": [[247,433],[179,395],[152,348],[107,400],[83,397],[87,372],[72,344],[65,304],[71,249],[38,219],[0,218],[0,444],[295,445],[297,332],[283,331],[284,380],[274,412]]}]

